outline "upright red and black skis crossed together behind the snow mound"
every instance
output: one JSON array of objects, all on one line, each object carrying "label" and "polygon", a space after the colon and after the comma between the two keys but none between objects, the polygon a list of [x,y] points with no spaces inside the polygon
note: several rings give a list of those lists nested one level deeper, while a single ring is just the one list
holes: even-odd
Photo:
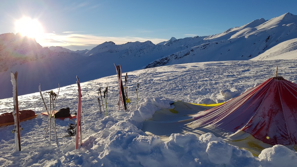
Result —
[{"label": "upright red and black skis crossed together behind the snow mound", "polygon": [[114,66],[116,67],[116,73],[117,73],[118,82],[119,82],[119,103],[118,103],[119,111],[121,110],[121,103],[122,103],[123,110],[127,112],[126,96],[125,96],[124,86],[122,82],[122,67],[121,67],[121,64],[119,65],[114,64]]}]

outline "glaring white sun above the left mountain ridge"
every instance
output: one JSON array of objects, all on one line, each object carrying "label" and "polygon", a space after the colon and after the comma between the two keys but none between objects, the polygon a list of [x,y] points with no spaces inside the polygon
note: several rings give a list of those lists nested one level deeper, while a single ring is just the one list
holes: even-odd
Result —
[{"label": "glaring white sun above the left mountain ridge", "polygon": [[38,38],[43,34],[43,29],[39,21],[29,17],[23,17],[15,21],[15,31],[22,36]]}]

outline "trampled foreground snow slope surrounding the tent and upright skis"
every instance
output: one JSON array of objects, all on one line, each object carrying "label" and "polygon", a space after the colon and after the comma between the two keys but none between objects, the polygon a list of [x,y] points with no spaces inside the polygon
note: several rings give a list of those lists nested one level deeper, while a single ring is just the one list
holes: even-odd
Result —
[{"label": "trampled foreground snow slope surrounding the tent and upright skis", "polygon": [[[48,117],[39,92],[19,96],[20,110],[31,109],[39,116],[21,122],[22,151],[16,151],[13,125],[0,127],[1,166],[296,166],[297,152],[282,145],[264,149],[258,157],[226,143],[212,133],[147,135],[142,123],[160,108],[173,108],[170,103],[182,100],[191,103],[223,102],[273,76],[297,82],[296,60],[203,62],[156,67],[128,72],[129,111],[118,112],[116,75],[81,83],[84,115],[83,145],[75,150],[74,137],[65,130],[69,119],[56,119],[58,145],[44,138]],[[116,73],[116,71],[114,71]],[[83,76],[78,76],[83,78]],[[78,92],[73,85],[61,87],[56,109],[69,107],[77,111]],[[136,102],[135,88],[140,84]],[[20,85],[22,83],[18,83]],[[37,83],[36,83],[37,85]],[[108,86],[108,116],[99,113],[98,88]],[[41,86],[42,87],[42,86]],[[57,92],[57,88],[53,89]],[[46,102],[48,90],[43,90]],[[0,100],[1,112],[13,110],[12,98]],[[160,127],[162,128],[162,127]],[[53,132],[52,136],[54,135]],[[54,137],[51,143],[56,143]]]}]

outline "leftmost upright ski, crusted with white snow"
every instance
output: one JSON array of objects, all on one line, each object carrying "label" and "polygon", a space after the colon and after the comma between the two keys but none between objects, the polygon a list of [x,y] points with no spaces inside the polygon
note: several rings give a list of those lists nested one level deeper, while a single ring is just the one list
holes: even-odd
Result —
[{"label": "leftmost upright ski, crusted with white snow", "polygon": [[18,89],[17,89],[17,78],[18,72],[10,73],[11,76],[11,83],[12,83],[12,96],[13,96],[13,119],[15,121],[14,129],[12,133],[15,133],[15,146],[16,150],[20,151],[20,118],[19,118],[19,108],[18,108]]}]

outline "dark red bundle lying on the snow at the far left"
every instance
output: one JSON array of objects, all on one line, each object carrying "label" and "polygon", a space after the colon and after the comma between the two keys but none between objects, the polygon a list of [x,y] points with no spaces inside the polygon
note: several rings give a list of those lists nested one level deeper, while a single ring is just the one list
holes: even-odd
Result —
[{"label": "dark red bundle lying on the snow at the far left", "polygon": [[[20,110],[20,122],[35,118],[37,115],[32,110]],[[13,125],[14,124],[14,118],[12,115],[12,112],[9,113],[3,113],[0,115],[0,126],[6,126],[6,125]]]}]

